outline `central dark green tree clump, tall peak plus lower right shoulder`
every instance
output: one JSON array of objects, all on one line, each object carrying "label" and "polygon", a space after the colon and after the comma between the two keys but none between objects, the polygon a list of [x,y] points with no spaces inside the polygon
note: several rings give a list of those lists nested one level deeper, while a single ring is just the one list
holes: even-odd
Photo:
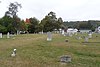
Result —
[{"label": "central dark green tree clump, tall peak plus lower right shoulder", "polygon": [[62,18],[56,18],[56,14],[54,12],[49,12],[45,18],[41,20],[40,23],[42,30],[44,32],[53,31],[55,29],[59,30],[60,28],[64,28]]}]

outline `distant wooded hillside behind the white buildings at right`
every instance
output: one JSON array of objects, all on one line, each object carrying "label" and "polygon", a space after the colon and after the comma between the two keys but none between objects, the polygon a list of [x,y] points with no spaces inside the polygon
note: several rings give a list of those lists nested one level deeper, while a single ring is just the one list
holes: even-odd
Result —
[{"label": "distant wooded hillside behind the white buildings at right", "polygon": [[90,29],[95,30],[100,26],[100,20],[88,20],[88,21],[65,21],[64,26],[66,28],[77,28],[77,29]]}]

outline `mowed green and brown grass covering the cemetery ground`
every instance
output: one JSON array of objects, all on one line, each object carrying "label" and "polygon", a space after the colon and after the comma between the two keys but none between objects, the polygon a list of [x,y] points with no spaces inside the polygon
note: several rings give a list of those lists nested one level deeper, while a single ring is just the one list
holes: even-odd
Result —
[{"label": "mowed green and brown grass covering the cemetery ground", "polygon": [[[79,34],[78,36],[87,36]],[[100,67],[100,34],[93,34],[89,43],[84,39],[53,34],[23,34],[0,39],[0,67]],[[69,42],[65,42],[68,39]],[[11,57],[13,49],[16,57]],[[62,64],[60,56],[70,55],[72,62]]]}]

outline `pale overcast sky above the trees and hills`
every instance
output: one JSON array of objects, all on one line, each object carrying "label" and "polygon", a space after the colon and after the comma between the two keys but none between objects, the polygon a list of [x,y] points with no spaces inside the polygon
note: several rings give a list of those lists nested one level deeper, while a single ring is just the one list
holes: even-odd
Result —
[{"label": "pale overcast sky above the trees and hills", "polygon": [[42,20],[50,11],[64,21],[100,20],[100,0],[0,0],[0,18],[8,10],[10,3],[22,5],[18,9],[21,19],[36,17]]}]

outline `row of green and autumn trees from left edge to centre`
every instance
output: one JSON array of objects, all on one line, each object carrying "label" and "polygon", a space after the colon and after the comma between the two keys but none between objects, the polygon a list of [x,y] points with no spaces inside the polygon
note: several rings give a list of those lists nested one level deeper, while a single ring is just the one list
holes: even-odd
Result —
[{"label": "row of green and autumn trees from left edge to centre", "polygon": [[0,18],[0,32],[16,33],[16,31],[28,31],[29,33],[38,33],[40,31],[48,32],[54,29],[63,28],[63,20],[57,18],[54,12],[49,12],[41,21],[35,17],[29,18],[29,23],[18,17],[18,9],[22,8],[18,2],[10,3],[8,11]]}]

